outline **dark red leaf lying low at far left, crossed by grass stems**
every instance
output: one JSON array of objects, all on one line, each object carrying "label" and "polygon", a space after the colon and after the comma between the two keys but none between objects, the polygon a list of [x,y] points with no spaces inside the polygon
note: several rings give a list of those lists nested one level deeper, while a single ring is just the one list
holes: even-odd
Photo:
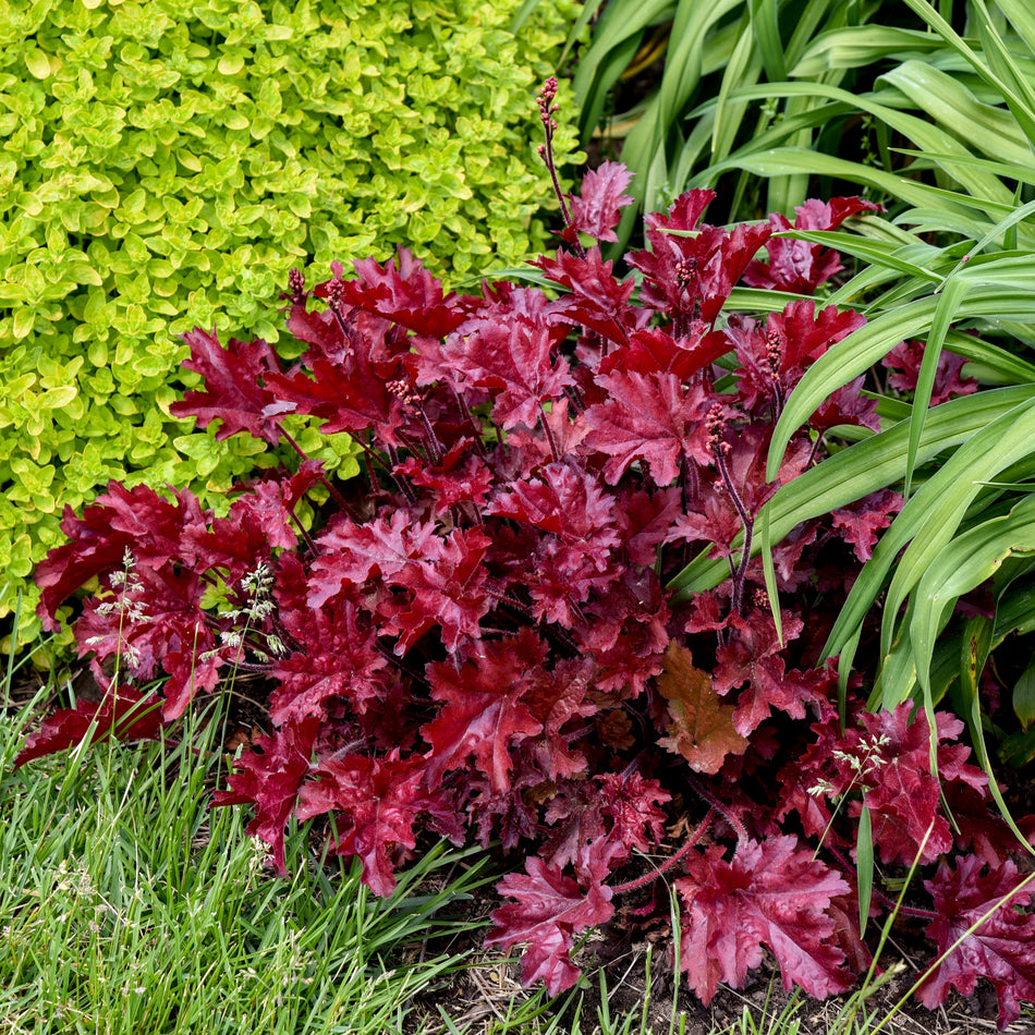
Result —
[{"label": "dark red leaf lying low at far left, crossed by grass stems", "polygon": [[[66,751],[82,743],[89,734],[89,743],[114,736],[120,741],[158,740],[166,724],[155,694],[142,694],[132,686],[110,689],[100,704],[80,701],[75,708],[62,708],[44,719],[36,733],[25,739],[25,746],[14,759],[14,768],[26,762]],[[92,730],[93,728],[93,730]]]}]

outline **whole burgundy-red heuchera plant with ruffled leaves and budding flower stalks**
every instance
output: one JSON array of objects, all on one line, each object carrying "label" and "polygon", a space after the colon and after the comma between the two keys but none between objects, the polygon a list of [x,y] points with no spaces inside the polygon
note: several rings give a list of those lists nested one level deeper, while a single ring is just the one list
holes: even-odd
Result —
[{"label": "whole burgundy-red heuchera plant with ruffled leaves and budding flower stalks", "polygon": [[[548,83],[548,144],[552,101]],[[862,379],[841,389],[767,483],[789,393],[863,318],[801,297],[766,317],[727,302],[741,280],[814,292],[838,257],[774,238],[779,221],[708,226],[713,194],[692,191],[647,217],[649,247],[622,277],[599,245],[628,183],[605,163],[562,199],[563,243],[535,264],[550,290],[447,294],[403,249],[312,292],[292,273],[304,353],[289,368],[263,341],[187,334],[205,387],[175,413],[269,446],[291,443],[287,415],[312,415],[362,443],[366,476],[336,484],[300,449],[292,470],[240,486],[224,518],[187,491],[114,482],[66,511],[69,543],[37,571],[40,613],[57,628],[100,580],[74,629],[105,697],[47,719],[16,764],[84,735],[156,736],[252,673],[268,732],[217,803],[254,808],[277,872],[291,816],[332,818],[330,852],[360,859],[378,894],[424,832],[498,841],[516,866],[486,942],[527,946],[523,981],[551,994],[579,977],[580,933],[669,915],[655,885],[668,872],[681,966],[705,1002],[763,949],[814,996],[868,966],[848,857],[865,807],[881,865],[939,864],[933,908],[902,911],[947,953],[924,1002],[983,976],[1001,1023],[1016,1020],[1035,994],[1035,917],[962,724],[937,719],[939,784],[923,714],[853,704],[843,724],[817,656],[899,498],[776,548],[782,644],[751,559],[779,485],[821,460],[831,429],[878,422]],[[874,207],[813,202],[799,221],[832,229]],[[317,483],[331,502],[308,533],[294,508]],[[703,549],[730,577],[677,607],[666,581]],[[888,904],[878,889],[874,912]]]}]

